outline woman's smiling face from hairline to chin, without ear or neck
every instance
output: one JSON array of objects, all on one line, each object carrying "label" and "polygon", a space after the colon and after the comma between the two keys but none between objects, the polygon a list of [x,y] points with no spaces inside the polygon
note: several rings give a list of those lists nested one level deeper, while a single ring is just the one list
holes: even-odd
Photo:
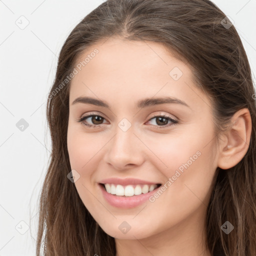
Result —
[{"label": "woman's smiling face from hairline to chin, without ear or neck", "polygon": [[155,42],[111,38],[77,64],[88,54],[71,81],[67,131],[85,207],[121,239],[202,220],[217,153],[211,104],[191,69]]}]

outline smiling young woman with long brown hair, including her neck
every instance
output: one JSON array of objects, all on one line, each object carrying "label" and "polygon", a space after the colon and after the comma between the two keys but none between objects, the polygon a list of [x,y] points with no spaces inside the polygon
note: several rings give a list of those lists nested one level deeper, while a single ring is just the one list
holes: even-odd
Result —
[{"label": "smiling young woman with long brown hair, including her neck", "polygon": [[107,0],[59,55],[37,255],[256,255],[248,59],[209,0]]}]

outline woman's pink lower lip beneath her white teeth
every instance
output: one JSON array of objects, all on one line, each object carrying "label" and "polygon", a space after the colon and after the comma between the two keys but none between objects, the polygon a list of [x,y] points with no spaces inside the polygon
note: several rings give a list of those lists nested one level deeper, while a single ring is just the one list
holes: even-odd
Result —
[{"label": "woman's pink lower lip beneath her white teeth", "polygon": [[147,192],[145,194],[138,194],[138,195],[132,195],[132,196],[121,196],[121,195],[115,195],[115,194],[110,194],[108,193],[104,186],[99,184],[99,187],[103,193],[103,196],[105,198],[105,200],[112,206],[114,207],[118,207],[118,208],[133,208],[136,207],[140,204],[142,204],[143,202],[145,202],[146,200],[148,200],[148,198],[153,195],[155,193],[155,191],[159,188],[156,187],[154,190]]}]

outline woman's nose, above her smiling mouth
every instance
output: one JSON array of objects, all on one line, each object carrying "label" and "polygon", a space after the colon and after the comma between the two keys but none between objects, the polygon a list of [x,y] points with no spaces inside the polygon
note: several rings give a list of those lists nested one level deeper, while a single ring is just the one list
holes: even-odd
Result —
[{"label": "woman's nose, above her smiling mouth", "polygon": [[144,161],[142,150],[142,142],[133,133],[132,128],[123,131],[118,127],[115,135],[107,143],[104,161],[118,170],[134,168]]}]

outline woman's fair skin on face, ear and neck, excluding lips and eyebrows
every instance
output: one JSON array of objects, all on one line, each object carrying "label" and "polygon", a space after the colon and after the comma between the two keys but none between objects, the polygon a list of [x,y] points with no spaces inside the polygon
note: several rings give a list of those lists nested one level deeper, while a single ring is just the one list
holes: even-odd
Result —
[{"label": "woman's fair skin on face, ear and neck, excluding lips and eyebrows", "polygon": [[[117,256],[211,254],[205,249],[204,218],[217,166],[238,163],[248,149],[251,120],[248,109],[235,113],[233,126],[221,135],[218,146],[213,132],[210,100],[192,81],[188,65],[159,43],[109,38],[95,43],[77,63],[97,48],[99,52],[73,77],[69,94],[67,147],[70,165],[79,173],[75,187],[84,205],[110,236],[115,237]],[[182,76],[169,72],[178,67]],[[189,106],[164,103],[142,109],[143,98],[176,97]],[[110,108],[75,103],[81,96],[106,101]],[[84,120],[100,114],[101,122]],[[178,120],[169,126],[156,122],[165,114]],[[118,123],[126,118],[131,127]],[[99,124],[97,124],[99,123]],[[100,124],[101,123],[101,124]],[[157,128],[162,127],[162,128]],[[183,173],[155,199],[130,209],[109,205],[97,182],[108,177],[133,177],[164,184],[183,163],[200,152]],[[118,226],[126,221],[130,230]]]}]

